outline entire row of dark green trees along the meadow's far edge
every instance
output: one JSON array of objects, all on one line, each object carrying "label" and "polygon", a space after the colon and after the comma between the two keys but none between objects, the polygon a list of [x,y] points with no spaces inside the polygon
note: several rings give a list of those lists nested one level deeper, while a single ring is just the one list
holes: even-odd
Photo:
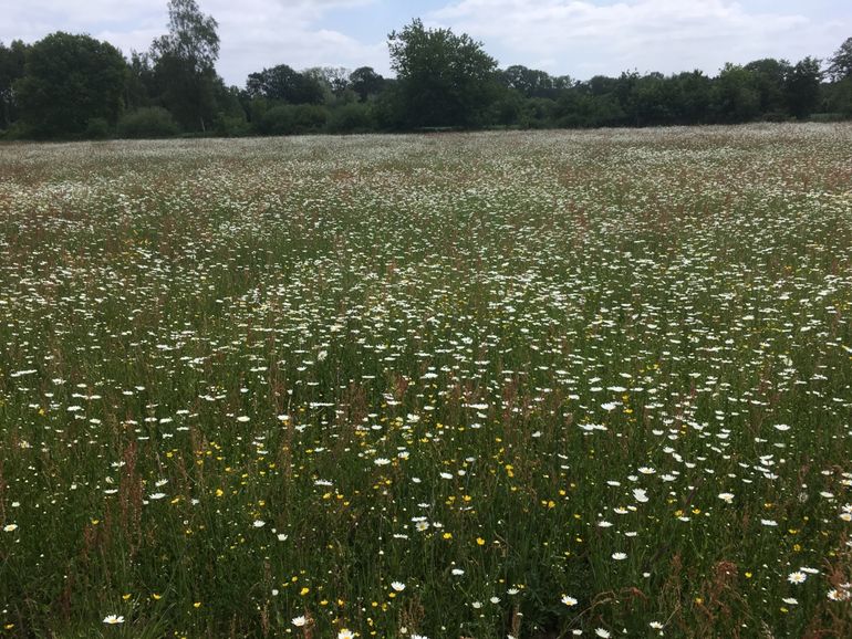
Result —
[{"label": "entire row of dark green trees along the meadow's far edge", "polygon": [[243,87],[216,72],[218,23],[170,0],[168,31],[128,59],[55,32],[0,43],[0,137],[97,139],[444,128],[580,128],[852,118],[852,38],[825,61],[763,59],[716,76],[624,72],[575,81],[512,65],[481,42],[413,20],[388,35],[391,67],[278,64]]}]

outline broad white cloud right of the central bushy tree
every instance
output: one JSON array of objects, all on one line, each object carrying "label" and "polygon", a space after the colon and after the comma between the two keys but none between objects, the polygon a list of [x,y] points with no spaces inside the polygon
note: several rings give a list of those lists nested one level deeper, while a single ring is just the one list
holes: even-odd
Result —
[{"label": "broad white cloud right of the central bushy tree", "polygon": [[482,40],[500,63],[540,65],[588,78],[598,73],[715,73],[725,62],[824,55],[848,25],[798,12],[749,12],[728,0],[463,0],[427,22]]}]

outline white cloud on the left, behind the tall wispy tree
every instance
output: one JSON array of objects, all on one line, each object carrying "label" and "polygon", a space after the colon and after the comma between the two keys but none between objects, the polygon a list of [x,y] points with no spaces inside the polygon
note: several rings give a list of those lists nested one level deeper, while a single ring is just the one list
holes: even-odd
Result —
[{"label": "white cloud on the left, behind the tall wispy tree", "polygon": [[[167,0],[30,0],[3,2],[0,41],[34,42],[53,31],[89,33],[120,48],[147,51],[166,32]],[[323,28],[332,11],[370,11],[375,0],[198,0],[219,23],[217,70],[229,84],[242,86],[253,71],[276,64],[309,66],[372,65],[388,73],[384,39],[364,43]]]}]

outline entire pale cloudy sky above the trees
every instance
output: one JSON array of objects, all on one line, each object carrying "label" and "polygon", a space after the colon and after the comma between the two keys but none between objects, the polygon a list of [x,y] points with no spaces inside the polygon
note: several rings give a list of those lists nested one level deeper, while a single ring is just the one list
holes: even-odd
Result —
[{"label": "entire pale cloudy sky above the trees", "polygon": [[[243,86],[277,64],[373,66],[387,34],[420,18],[484,43],[501,67],[588,80],[702,70],[761,57],[829,57],[852,36],[852,0],[197,0],[219,23],[217,70]],[[126,55],[166,32],[167,0],[0,0],[0,41],[87,33]]]}]

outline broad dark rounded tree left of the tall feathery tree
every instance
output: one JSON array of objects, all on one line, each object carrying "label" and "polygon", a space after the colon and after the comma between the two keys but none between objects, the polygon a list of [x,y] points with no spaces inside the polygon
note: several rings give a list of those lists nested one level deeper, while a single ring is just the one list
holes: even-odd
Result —
[{"label": "broad dark rounded tree left of the tall feathery tree", "polygon": [[115,124],[126,70],[108,42],[51,33],[32,45],[24,76],[14,84],[21,119],[43,137],[82,134],[94,118]]}]

